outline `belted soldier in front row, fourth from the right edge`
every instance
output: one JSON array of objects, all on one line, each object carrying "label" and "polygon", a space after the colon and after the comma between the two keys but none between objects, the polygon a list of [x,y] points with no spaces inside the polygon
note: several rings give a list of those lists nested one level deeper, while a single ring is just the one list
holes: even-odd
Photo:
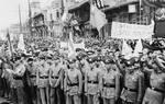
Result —
[{"label": "belted soldier in front row, fourth from the right edge", "polygon": [[89,69],[85,73],[85,93],[88,97],[88,104],[99,104],[99,69],[95,66],[95,58],[89,57]]}]

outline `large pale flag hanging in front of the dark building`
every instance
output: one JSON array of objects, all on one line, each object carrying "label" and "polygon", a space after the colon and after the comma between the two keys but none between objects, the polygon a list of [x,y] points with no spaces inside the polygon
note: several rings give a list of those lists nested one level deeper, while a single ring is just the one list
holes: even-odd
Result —
[{"label": "large pale flag hanging in front of the dark building", "polygon": [[101,27],[107,24],[106,14],[100,11],[97,7],[90,7],[90,24],[100,32]]}]

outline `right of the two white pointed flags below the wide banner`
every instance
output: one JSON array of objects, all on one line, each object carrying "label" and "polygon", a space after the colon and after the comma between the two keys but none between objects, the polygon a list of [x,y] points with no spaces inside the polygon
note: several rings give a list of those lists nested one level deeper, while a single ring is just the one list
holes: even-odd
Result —
[{"label": "right of the two white pointed flags below the wide banner", "polygon": [[142,41],[139,39],[135,45],[133,56],[139,57],[140,53],[142,53],[142,49],[143,49]]}]

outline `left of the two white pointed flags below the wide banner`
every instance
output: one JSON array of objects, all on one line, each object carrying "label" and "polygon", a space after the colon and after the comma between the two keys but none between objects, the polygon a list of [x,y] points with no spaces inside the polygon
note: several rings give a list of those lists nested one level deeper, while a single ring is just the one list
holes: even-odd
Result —
[{"label": "left of the two white pointed flags below the wide banner", "polygon": [[127,44],[125,41],[123,41],[121,54],[124,56],[124,58],[130,59],[132,57],[132,48]]}]

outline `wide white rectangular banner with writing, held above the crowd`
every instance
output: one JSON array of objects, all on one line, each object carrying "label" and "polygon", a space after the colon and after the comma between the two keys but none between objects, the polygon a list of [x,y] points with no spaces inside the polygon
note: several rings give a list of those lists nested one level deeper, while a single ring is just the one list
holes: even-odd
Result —
[{"label": "wide white rectangular banner with writing, held above the crowd", "polygon": [[111,37],[124,39],[144,39],[152,38],[154,23],[151,25],[128,24],[112,22]]}]

